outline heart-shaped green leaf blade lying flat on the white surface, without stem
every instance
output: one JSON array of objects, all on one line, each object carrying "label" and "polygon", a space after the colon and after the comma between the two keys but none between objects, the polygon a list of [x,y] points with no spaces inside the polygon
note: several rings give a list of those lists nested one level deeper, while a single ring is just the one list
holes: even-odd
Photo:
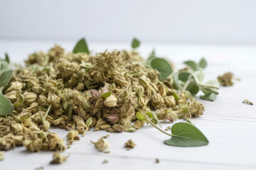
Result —
[{"label": "heart-shaped green leaf blade lying flat on the white surface, without stem", "polygon": [[208,145],[208,140],[203,133],[190,123],[176,123],[171,127],[172,136],[165,140],[166,145],[176,147],[199,147]]}]

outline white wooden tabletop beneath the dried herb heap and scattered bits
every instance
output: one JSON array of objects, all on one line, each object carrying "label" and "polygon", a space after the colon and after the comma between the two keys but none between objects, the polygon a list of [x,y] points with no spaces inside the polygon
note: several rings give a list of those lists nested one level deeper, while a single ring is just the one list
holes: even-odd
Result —
[{"label": "white wooden tabletop beneath the dried herb heap and scattered bits", "polygon": [[[29,42],[0,40],[0,56],[9,52],[12,62],[22,62],[29,53],[36,50],[48,50],[54,42]],[[75,42],[59,42],[67,50],[72,50]],[[256,46],[228,45],[166,45],[142,44],[139,51],[149,54],[152,48],[157,55],[169,57],[177,67],[184,60],[199,60],[202,56],[208,60],[206,80],[215,78],[223,72],[231,71],[241,81],[235,81],[232,87],[221,87],[220,95],[214,102],[202,101],[206,111],[193,123],[210,141],[204,147],[170,147],[163,141],[169,137],[161,134],[150,125],[134,133],[109,133],[104,131],[87,132],[80,141],[74,142],[65,154],[70,154],[67,162],[50,165],[52,152],[28,153],[24,147],[16,147],[5,153],[0,169],[256,169],[256,108],[242,103],[248,100],[256,104]],[[91,42],[90,49],[103,51],[129,48],[129,43]],[[200,100],[200,99],[198,99]],[[182,120],[181,120],[182,121]],[[163,128],[172,123],[163,123]],[[60,137],[68,131],[52,129]],[[109,134],[110,153],[98,152],[90,143]],[[127,151],[124,142],[132,139],[137,147]],[[160,163],[156,164],[155,159]],[[107,159],[107,164],[102,162]]]}]

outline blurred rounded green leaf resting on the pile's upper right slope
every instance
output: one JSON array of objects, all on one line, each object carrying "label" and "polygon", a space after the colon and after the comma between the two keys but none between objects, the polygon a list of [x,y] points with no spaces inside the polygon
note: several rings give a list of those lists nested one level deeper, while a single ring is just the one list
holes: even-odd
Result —
[{"label": "blurred rounded green leaf resting on the pile's upper right slope", "polygon": [[166,79],[173,71],[171,64],[163,58],[154,58],[151,60],[151,67],[159,71],[161,79]]}]

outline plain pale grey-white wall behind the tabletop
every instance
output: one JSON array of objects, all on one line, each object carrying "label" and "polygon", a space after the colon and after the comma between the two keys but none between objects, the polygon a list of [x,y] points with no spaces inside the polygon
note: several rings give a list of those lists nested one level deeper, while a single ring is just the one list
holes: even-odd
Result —
[{"label": "plain pale grey-white wall behind the tabletop", "polygon": [[0,39],[256,44],[253,0],[0,0]]}]

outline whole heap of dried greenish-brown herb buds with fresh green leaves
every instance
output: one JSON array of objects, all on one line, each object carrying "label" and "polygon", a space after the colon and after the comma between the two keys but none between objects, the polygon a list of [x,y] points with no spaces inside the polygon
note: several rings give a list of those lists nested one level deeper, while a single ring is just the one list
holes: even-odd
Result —
[{"label": "whole heap of dried greenish-brown herb buds with fresh green leaves", "polygon": [[[138,46],[134,39],[132,47]],[[201,90],[201,98],[215,100],[218,81],[203,84],[206,60],[185,64],[188,67],[173,72],[172,64],[155,52],[145,61],[134,49],[92,55],[84,39],[73,52],[58,45],[47,53],[35,52],[26,67],[14,70],[6,55],[1,60],[0,149],[23,145],[30,152],[65,150],[67,144],[49,131],[51,126],[70,130],[70,145],[89,128],[134,132],[150,123],[161,130],[159,120],[203,115],[203,104],[193,96]],[[172,134],[161,132],[171,136],[167,145],[208,144],[189,121],[173,125]]]}]

